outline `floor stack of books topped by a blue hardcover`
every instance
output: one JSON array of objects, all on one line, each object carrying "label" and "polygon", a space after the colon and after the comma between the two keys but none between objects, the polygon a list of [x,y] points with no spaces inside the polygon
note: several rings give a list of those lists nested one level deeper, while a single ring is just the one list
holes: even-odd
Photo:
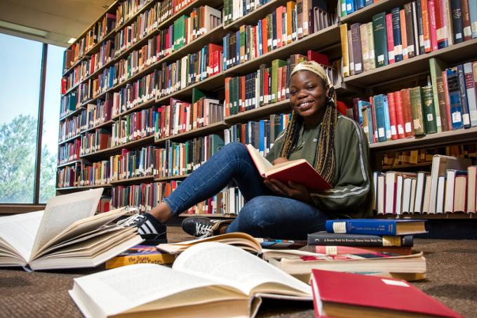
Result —
[{"label": "floor stack of books topped by a blue hardcover", "polygon": [[412,251],[412,234],[426,232],[424,220],[328,220],[326,232],[309,234],[316,256],[285,257],[270,263],[300,279],[311,270],[355,272],[409,281],[426,277],[426,259]]}]

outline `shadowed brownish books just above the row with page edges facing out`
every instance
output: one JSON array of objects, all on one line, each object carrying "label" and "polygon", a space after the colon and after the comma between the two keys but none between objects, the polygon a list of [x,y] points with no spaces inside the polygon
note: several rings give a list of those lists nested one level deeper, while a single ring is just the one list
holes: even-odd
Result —
[{"label": "shadowed brownish books just above the row with page edges facing out", "polygon": [[477,158],[477,145],[448,145],[439,148],[422,148],[418,150],[389,152],[382,154],[381,166],[382,167],[400,167],[432,164],[434,154],[445,154],[446,156],[461,157],[461,158]]}]

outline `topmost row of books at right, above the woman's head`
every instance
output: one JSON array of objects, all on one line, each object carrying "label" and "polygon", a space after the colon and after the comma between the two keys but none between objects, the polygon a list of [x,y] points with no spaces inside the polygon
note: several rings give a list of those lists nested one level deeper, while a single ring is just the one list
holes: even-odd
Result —
[{"label": "topmost row of books at right, above the woman's head", "polygon": [[[343,76],[367,72],[477,37],[477,4],[417,0],[377,13],[372,22],[340,25]],[[472,26],[472,27],[471,27]]]}]

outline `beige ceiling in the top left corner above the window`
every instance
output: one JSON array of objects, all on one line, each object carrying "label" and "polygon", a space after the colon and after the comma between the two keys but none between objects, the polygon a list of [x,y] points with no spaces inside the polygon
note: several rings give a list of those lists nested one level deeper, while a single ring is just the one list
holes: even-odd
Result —
[{"label": "beige ceiling in the top left corner above the window", "polygon": [[0,32],[58,46],[78,37],[114,0],[0,0]]}]

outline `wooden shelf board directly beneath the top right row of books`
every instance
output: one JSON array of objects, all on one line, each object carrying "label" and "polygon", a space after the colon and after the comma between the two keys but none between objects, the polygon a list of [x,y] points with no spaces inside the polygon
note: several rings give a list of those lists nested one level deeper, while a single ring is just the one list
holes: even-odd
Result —
[{"label": "wooden shelf board directly beneath the top right row of books", "polygon": [[476,57],[477,39],[465,41],[459,44],[441,48],[431,53],[417,55],[408,60],[402,60],[384,67],[377,67],[368,72],[344,77],[344,84],[352,84],[358,87],[369,87],[383,84],[393,79],[409,77],[422,72],[429,72],[429,58],[438,58],[443,62],[455,65]]}]

